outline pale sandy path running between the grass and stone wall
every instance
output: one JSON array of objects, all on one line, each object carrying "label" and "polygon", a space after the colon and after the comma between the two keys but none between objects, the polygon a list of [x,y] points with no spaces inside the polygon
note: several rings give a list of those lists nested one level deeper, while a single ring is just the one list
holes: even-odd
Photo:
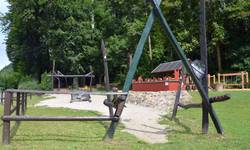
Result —
[{"label": "pale sandy path running between the grass and stone wall", "polygon": [[[80,110],[98,111],[103,115],[108,115],[108,107],[103,105],[106,96],[91,96],[92,102],[73,102],[70,103],[70,95],[50,95],[53,99],[44,100],[37,106],[47,107],[64,107]],[[125,125],[125,132],[135,135],[140,140],[148,143],[165,143],[167,142],[167,126],[160,125],[159,119],[163,115],[153,108],[142,107],[134,104],[126,104],[122,114],[122,123]]]}]

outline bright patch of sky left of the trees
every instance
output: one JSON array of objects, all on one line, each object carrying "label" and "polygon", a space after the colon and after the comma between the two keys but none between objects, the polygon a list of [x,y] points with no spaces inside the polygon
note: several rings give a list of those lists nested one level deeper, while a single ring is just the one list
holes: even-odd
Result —
[{"label": "bright patch of sky left of the trees", "polygon": [[[8,12],[8,2],[6,0],[0,0],[0,12]],[[2,33],[0,30],[0,70],[6,65],[10,64],[10,61],[6,54],[6,45],[5,45],[6,34]]]}]

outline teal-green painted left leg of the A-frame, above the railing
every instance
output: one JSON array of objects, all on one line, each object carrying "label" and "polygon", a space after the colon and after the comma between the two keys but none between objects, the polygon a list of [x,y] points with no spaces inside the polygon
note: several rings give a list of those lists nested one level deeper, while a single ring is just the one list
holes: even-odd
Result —
[{"label": "teal-green painted left leg of the A-frame, above the railing", "polygon": [[[157,0],[156,5],[160,6],[160,4],[161,4],[161,0]],[[147,20],[147,23],[146,23],[146,25],[144,27],[144,30],[142,32],[140,41],[139,41],[139,43],[138,43],[138,45],[136,47],[136,51],[135,51],[135,54],[133,56],[132,64],[131,64],[131,66],[129,68],[129,71],[128,71],[128,74],[127,74],[127,77],[126,77],[126,80],[125,80],[125,84],[123,86],[123,92],[128,92],[130,87],[131,87],[132,80],[134,78],[137,66],[139,64],[139,61],[140,61],[140,58],[141,58],[141,55],[142,55],[142,52],[143,52],[144,45],[145,45],[145,43],[147,41],[147,38],[149,36],[149,33],[150,33],[151,29],[152,29],[154,20],[155,20],[155,15],[154,15],[154,12],[152,11],[151,14],[148,17],[148,20]]]}]

